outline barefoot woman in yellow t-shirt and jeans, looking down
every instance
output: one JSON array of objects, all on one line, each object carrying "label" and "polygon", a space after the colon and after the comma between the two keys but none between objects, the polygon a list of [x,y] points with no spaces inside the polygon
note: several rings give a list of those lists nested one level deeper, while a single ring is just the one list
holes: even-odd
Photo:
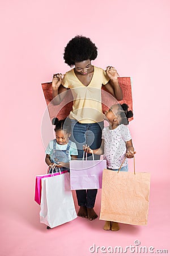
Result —
[{"label": "barefoot woman in yellow t-shirt and jeans, looking down", "polygon": [[[70,112],[72,134],[71,140],[78,148],[78,158],[83,155],[83,144],[91,148],[100,147],[101,131],[104,127],[101,108],[101,86],[117,100],[122,100],[122,90],[118,84],[117,71],[114,67],[107,67],[106,71],[92,65],[91,61],[97,57],[97,47],[90,38],[75,36],[65,47],[63,58],[65,63],[74,67],[66,72],[53,75],[53,102],[58,105],[71,89],[73,94],[73,110]],[[99,159],[100,156],[96,156]],[[78,216],[95,220],[94,211],[97,189],[76,191],[78,199]]]}]

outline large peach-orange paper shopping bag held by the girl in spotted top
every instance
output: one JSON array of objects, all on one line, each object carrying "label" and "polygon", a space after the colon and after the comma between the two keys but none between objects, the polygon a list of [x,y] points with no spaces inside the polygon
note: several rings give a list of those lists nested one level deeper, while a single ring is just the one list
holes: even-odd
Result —
[{"label": "large peach-orange paper shopping bag held by the girl in spotted top", "polygon": [[103,171],[100,220],[147,225],[150,174]]}]

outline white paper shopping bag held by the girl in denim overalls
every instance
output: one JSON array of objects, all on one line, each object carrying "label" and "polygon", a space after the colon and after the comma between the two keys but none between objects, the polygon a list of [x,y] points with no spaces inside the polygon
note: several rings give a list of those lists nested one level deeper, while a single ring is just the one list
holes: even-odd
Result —
[{"label": "white paper shopping bag held by the girl in denim overalls", "polygon": [[40,222],[50,228],[59,226],[77,217],[70,190],[70,174],[41,179]]}]

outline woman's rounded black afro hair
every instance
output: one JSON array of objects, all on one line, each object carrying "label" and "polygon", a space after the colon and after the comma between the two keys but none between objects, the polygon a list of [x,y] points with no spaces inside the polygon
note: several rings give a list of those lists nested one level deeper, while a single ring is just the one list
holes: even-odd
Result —
[{"label": "woman's rounded black afro hair", "polygon": [[63,53],[63,59],[65,63],[70,67],[75,62],[81,62],[84,60],[95,60],[97,57],[97,47],[91,42],[90,38],[78,35],[72,38]]}]

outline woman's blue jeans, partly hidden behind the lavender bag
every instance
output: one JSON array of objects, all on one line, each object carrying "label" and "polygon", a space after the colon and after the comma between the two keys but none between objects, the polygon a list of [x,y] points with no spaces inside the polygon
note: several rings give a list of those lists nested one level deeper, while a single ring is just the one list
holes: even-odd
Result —
[{"label": "woman's blue jeans, partly hidden behind the lavender bag", "polygon": [[[87,144],[91,149],[99,148],[101,145],[101,133],[104,122],[99,123],[79,123],[71,119],[71,141],[75,142],[78,149],[78,160],[83,158],[83,145]],[[95,160],[100,159],[100,155],[95,155]],[[92,155],[88,154],[88,160],[92,160]],[[94,208],[97,189],[76,190],[76,197],[79,206]]]}]

